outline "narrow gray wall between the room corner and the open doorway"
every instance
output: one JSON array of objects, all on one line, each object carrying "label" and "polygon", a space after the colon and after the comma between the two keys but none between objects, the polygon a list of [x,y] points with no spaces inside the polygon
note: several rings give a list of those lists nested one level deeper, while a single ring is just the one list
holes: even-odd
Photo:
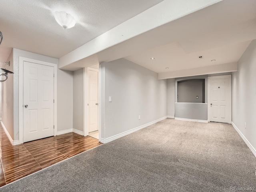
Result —
[{"label": "narrow gray wall between the room corner and the open doorway", "polygon": [[73,129],[84,131],[84,69],[73,73]]}]

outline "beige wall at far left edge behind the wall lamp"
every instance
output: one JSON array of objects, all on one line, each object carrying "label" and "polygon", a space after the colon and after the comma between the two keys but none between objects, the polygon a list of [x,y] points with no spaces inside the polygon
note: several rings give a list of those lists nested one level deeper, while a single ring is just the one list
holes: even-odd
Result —
[{"label": "beige wall at far left edge behind the wall lamp", "polygon": [[[10,71],[13,71],[13,50],[10,53],[7,61],[10,61],[10,66],[2,65]],[[14,129],[13,129],[13,74],[8,74],[8,79],[5,82],[1,82],[2,84],[2,123],[6,127],[6,130],[14,139]]]}]

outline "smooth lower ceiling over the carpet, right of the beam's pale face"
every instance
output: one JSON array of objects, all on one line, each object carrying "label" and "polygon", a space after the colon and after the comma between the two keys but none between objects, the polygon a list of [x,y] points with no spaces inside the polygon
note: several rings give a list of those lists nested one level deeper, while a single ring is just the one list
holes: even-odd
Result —
[{"label": "smooth lower ceiling over the carpet, right of the beam's pale face", "polygon": [[[167,6],[165,2],[156,6]],[[255,0],[223,0],[99,50],[97,54],[63,69],[76,70],[86,64],[118,58],[125,58],[158,74],[236,63],[250,42],[256,39],[255,10]],[[159,11],[159,15],[166,14],[163,7]],[[132,21],[129,24],[134,27]],[[150,60],[152,57],[155,59]],[[66,57],[63,58],[65,62]]]}]

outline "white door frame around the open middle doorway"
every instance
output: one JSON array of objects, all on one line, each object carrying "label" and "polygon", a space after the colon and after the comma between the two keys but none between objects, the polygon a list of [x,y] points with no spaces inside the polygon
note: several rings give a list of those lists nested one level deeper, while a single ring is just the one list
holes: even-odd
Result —
[{"label": "white door frame around the open middle doorway", "polygon": [[89,134],[89,128],[88,128],[88,115],[89,115],[89,107],[88,107],[88,70],[94,70],[98,72],[98,131],[99,131],[99,142],[100,142],[100,136],[101,136],[101,126],[100,126],[100,64],[99,69],[94,69],[91,67],[84,68],[84,136],[88,136]]}]

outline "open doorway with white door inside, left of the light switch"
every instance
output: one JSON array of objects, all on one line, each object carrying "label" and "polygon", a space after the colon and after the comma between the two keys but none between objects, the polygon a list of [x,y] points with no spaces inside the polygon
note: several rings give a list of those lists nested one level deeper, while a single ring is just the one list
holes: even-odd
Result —
[{"label": "open doorway with white door inside, left of the light switch", "polygon": [[98,130],[98,72],[99,64],[87,68],[87,130],[88,135],[99,139]]}]

